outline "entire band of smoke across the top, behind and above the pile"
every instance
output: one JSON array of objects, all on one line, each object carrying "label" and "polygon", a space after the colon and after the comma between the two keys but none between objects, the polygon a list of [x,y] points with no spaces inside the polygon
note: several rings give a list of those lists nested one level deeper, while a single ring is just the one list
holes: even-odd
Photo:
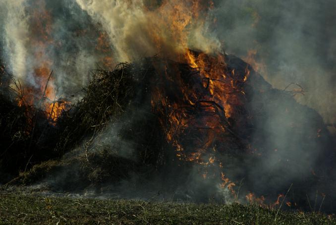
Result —
[{"label": "entire band of smoke across the top, behind and above the pile", "polygon": [[[85,86],[96,63],[105,65],[106,57],[112,66],[160,53],[174,58],[184,48],[209,53],[224,47],[243,58],[252,51],[274,87],[300,84],[306,94],[297,100],[335,122],[335,1],[197,2],[3,0],[1,55],[16,78],[35,86],[43,85],[34,69],[47,64],[54,69],[51,85],[58,97],[69,97]],[[50,24],[37,31],[34,16],[44,13]],[[103,31],[109,39],[104,51],[97,47]]]}]

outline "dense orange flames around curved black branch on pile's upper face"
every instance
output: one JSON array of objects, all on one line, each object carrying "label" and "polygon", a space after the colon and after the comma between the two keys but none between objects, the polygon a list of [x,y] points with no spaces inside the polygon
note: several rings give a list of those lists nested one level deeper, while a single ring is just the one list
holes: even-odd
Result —
[{"label": "dense orange flames around curved black branch on pile's upper face", "polygon": [[[168,126],[167,121],[163,126],[167,128],[167,140],[175,146],[178,158],[204,163],[204,155],[216,151],[214,143],[224,142],[221,136],[226,132],[232,132],[229,120],[235,117],[236,107],[243,104],[241,100],[244,93],[240,85],[244,83],[247,75],[239,77],[234,72],[226,71],[224,55],[221,54],[209,56],[187,50],[184,56],[185,61],[194,70],[190,75],[195,81],[194,85],[188,87],[183,84],[183,80],[179,80],[180,77],[175,77],[166,71],[166,79],[175,82],[182,96],[179,97],[180,100],[176,97],[171,101],[168,96],[164,96],[162,89],[155,90],[152,106],[157,108],[157,104],[160,103],[168,110]],[[201,114],[195,117],[190,114],[191,109]],[[166,114],[163,110],[161,113]],[[202,137],[202,140],[195,140],[195,151],[190,154],[185,154],[185,147],[178,140],[181,135],[185,135],[186,130],[199,132],[199,136]]]}]

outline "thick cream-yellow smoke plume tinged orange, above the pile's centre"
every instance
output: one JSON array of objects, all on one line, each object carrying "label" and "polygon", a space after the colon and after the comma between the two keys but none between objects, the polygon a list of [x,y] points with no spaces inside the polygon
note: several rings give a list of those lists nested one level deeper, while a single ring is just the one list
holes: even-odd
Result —
[{"label": "thick cream-yellow smoke plume tinged orange, above the pile's centre", "polygon": [[173,57],[187,47],[204,52],[220,48],[218,40],[207,30],[209,21],[198,15],[202,13],[201,3],[176,0],[153,5],[142,0],[77,0],[77,3],[108,31],[113,54],[119,61],[160,53]]}]

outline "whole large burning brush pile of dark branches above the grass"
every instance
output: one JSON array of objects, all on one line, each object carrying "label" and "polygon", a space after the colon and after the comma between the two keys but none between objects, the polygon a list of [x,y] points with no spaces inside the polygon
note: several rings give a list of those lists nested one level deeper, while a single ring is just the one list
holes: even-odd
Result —
[{"label": "whole large burning brush pile of dark branches above the grass", "polygon": [[293,99],[302,90],[273,89],[241,59],[188,50],[92,72],[57,116],[2,83],[1,171],[23,171],[9,184],[261,205],[290,187],[287,206],[303,208],[333,193],[322,117]]}]

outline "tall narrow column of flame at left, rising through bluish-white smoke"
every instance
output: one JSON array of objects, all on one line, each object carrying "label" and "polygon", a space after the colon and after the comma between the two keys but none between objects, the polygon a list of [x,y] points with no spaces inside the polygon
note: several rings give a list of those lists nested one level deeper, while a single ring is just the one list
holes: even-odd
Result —
[{"label": "tall narrow column of flame at left, rising through bluish-white smoke", "polygon": [[[33,65],[33,81],[23,81],[21,97],[18,105],[36,106],[48,115],[52,124],[66,108],[68,102],[60,101],[56,96],[55,77],[51,70],[53,60],[49,56],[48,48],[57,46],[52,37],[52,16],[46,10],[44,0],[38,0],[31,6],[33,9],[30,20],[31,36],[29,45],[33,49],[35,58]],[[30,113],[29,113],[30,114]]]}]

